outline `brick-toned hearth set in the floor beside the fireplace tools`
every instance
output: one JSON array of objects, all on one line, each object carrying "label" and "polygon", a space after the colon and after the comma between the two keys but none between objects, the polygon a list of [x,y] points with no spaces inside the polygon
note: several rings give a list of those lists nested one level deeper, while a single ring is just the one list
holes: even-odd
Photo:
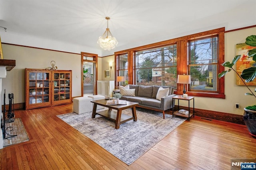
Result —
[{"label": "brick-toned hearth set in the floor beside the fireplace tools", "polygon": [[[3,139],[3,147],[29,140],[26,129],[20,118],[16,118],[14,122],[6,123],[5,128],[7,134],[5,134],[6,138]],[[8,134],[17,134],[17,136],[10,137]]]}]

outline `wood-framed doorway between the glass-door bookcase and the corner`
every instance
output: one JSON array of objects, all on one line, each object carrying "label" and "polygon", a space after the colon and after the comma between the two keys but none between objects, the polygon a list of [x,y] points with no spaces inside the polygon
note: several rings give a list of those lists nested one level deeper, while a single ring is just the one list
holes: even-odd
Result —
[{"label": "wood-framed doorway between the glass-door bookcase and the corner", "polygon": [[97,94],[98,55],[81,52],[81,96]]}]

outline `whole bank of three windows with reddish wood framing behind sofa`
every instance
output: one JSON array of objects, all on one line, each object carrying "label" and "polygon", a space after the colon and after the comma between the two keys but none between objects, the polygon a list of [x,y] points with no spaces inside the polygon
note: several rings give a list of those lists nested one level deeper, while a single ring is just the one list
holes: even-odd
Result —
[{"label": "whole bank of three windows with reddish wood framing behind sofa", "polygon": [[176,83],[177,75],[190,74],[188,95],[224,99],[224,79],[217,77],[224,71],[224,32],[218,28],[115,52],[116,73],[129,84],[170,85],[178,95],[183,84]]}]

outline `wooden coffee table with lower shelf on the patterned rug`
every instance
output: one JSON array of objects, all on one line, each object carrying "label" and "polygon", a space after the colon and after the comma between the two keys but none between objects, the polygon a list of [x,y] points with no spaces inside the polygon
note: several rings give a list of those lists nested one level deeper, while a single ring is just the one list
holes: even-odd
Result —
[{"label": "wooden coffee table with lower shelf on the patterned rug", "polygon": [[[100,115],[107,119],[110,119],[116,123],[115,128],[118,129],[122,123],[130,121],[137,121],[136,115],[136,105],[138,103],[127,101],[127,105],[106,105],[107,100],[95,100],[91,101],[94,103],[93,110],[92,110],[92,118],[95,118],[95,115]],[[96,112],[97,105],[101,105],[104,107],[108,107],[108,110]],[[132,108],[132,116],[122,114],[122,110]],[[117,112],[112,111],[112,109],[117,110]]]}]

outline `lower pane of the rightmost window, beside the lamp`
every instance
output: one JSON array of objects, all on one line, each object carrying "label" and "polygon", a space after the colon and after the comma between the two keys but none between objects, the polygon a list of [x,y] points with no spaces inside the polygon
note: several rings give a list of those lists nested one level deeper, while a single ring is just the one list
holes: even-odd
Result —
[{"label": "lower pane of the rightmost window, beside the lamp", "polygon": [[217,91],[217,65],[190,66],[190,91]]}]

